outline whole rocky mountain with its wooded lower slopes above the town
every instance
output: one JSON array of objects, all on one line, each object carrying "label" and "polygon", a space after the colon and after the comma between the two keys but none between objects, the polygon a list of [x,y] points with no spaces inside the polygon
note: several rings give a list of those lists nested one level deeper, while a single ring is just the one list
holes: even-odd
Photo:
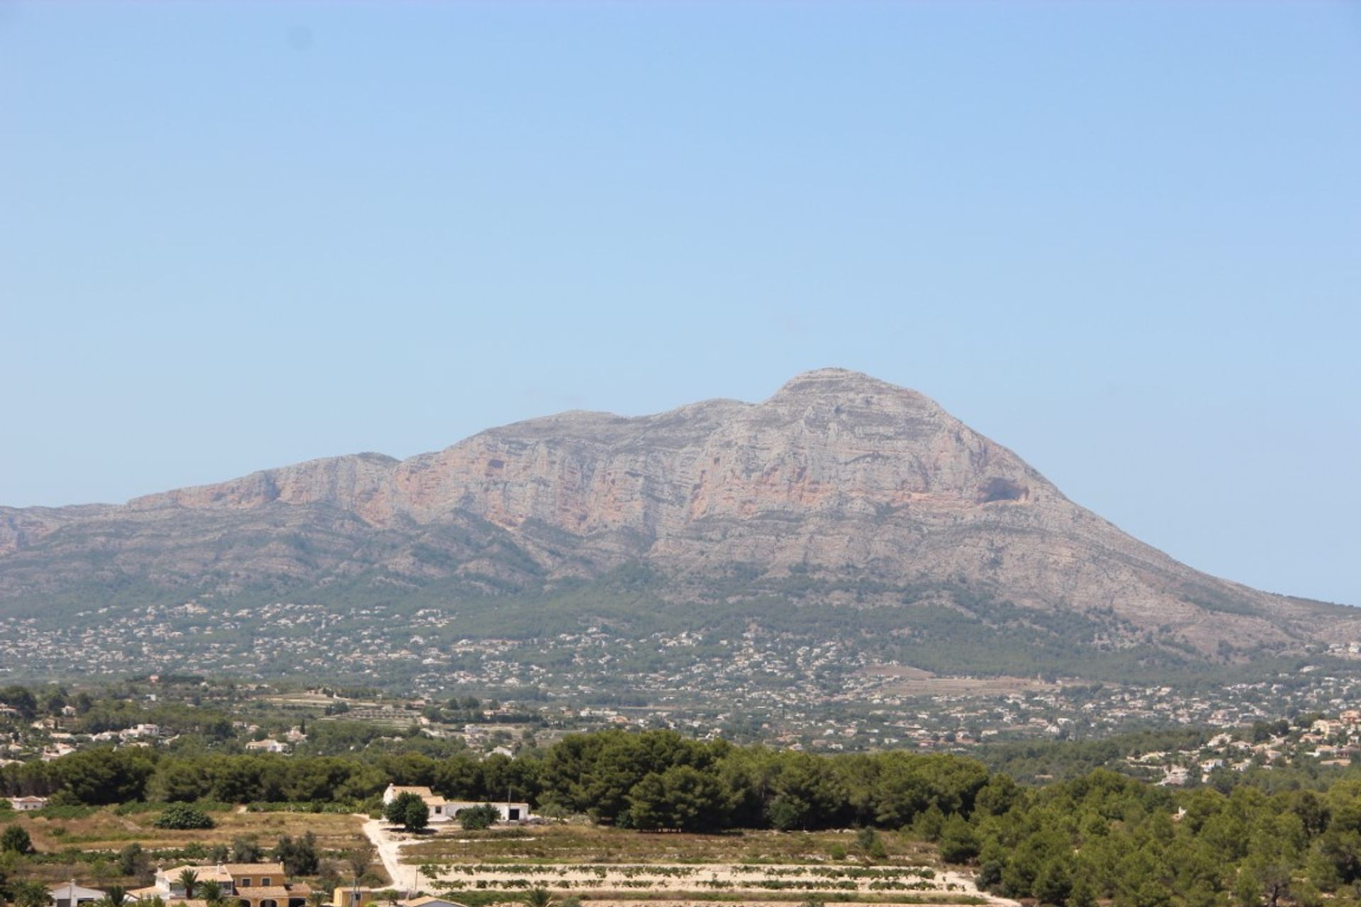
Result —
[{"label": "whole rocky mountain with its wooded lower slopes above the town", "polygon": [[625,623],[840,609],[973,670],[998,647],[1195,664],[1361,638],[1354,611],[1198,572],[930,398],[841,369],[758,404],[566,412],[410,460],[0,507],[0,615],[189,600],[480,602],[525,632],[566,601]]}]

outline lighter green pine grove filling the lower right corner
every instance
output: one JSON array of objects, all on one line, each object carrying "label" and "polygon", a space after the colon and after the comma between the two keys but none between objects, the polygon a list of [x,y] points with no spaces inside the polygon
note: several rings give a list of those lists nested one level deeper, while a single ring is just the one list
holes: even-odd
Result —
[{"label": "lighter green pine grove filling the lower right corner", "polygon": [[1354,900],[1361,783],[1342,781],[1323,793],[1239,785],[1173,794],[1098,770],[1023,790],[1004,812],[977,810],[957,838],[977,855],[980,884],[1049,904]]}]

